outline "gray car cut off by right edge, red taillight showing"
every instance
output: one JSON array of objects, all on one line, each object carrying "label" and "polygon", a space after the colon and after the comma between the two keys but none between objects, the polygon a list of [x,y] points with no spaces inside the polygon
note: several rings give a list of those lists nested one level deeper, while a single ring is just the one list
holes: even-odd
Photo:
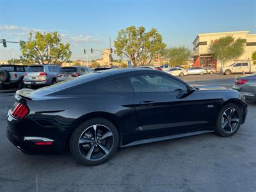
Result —
[{"label": "gray car cut off by right edge, red taillight showing", "polygon": [[256,73],[235,78],[234,90],[241,92],[248,100],[256,101]]}]

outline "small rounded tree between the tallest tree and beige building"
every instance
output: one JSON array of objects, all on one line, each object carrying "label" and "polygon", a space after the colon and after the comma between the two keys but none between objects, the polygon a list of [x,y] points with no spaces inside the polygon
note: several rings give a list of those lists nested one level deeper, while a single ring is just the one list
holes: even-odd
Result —
[{"label": "small rounded tree between the tallest tree and beige building", "polygon": [[184,46],[164,49],[163,54],[164,60],[167,60],[168,63],[172,66],[183,65],[190,56],[191,51]]}]

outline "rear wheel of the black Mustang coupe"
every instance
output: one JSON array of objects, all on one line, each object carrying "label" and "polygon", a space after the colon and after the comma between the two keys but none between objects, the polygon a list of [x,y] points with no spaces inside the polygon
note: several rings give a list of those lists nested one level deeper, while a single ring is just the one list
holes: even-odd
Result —
[{"label": "rear wheel of the black Mustang coupe", "polygon": [[[97,132],[96,136],[95,129]],[[92,118],[83,122],[74,130],[69,144],[72,156],[79,163],[86,166],[102,164],[108,161],[118,148],[118,131],[109,120],[105,118]]]}]

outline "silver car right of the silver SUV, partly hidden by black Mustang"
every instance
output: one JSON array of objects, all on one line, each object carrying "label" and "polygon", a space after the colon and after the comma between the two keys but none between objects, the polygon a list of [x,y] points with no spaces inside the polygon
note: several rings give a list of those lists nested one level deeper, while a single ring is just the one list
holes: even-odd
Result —
[{"label": "silver car right of the silver SUV, partly hidden by black Mustang", "polygon": [[57,74],[57,82],[65,81],[72,77],[83,76],[92,73],[92,69],[83,66],[61,67]]}]

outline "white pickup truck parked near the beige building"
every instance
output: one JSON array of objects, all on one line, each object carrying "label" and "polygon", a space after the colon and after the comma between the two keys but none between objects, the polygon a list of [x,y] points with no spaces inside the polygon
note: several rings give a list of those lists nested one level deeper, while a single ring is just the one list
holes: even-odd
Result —
[{"label": "white pickup truck parked near the beige building", "polygon": [[249,74],[256,72],[256,65],[250,65],[249,62],[237,62],[221,68],[220,72],[226,76],[230,74]]}]

